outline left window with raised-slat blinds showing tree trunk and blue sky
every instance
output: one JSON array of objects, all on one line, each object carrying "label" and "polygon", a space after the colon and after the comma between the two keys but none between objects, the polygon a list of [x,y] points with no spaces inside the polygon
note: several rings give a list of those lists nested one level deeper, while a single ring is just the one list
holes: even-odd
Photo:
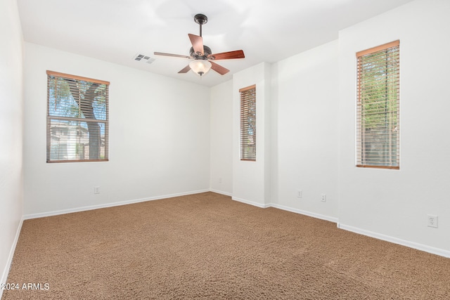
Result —
[{"label": "left window with raised-slat blinds showing tree trunk and blue sky", "polygon": [[108,88],[47,71],[47,162],[108,161]]}]

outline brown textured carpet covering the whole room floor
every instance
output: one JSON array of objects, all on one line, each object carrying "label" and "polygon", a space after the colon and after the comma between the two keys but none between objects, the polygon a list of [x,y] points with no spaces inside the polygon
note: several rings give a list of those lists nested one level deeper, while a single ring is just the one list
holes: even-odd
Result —
[{"label": "brown textured carpet covering the whole room floor", "polygon": [[450,299],[450,259],[201,193],[27,220],[8,282],[4,300]]}]

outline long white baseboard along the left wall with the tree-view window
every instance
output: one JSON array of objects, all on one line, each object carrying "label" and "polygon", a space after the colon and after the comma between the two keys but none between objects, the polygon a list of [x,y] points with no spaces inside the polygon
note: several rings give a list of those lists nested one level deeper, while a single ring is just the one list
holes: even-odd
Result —
[{"label": "long white baseboard along the left wall with the tree-view window", "polygon": [[46,216],[57,216],[57,215],[60,215],[60,214],[71,214],[73,212],[88,211],[88,210],[92,210],[92,209],[103,209],[103,208],[106,208],[106,207],[117,207],[117,206],[120,206],[120,205],[127,205],[127,204],[146,202],[146,201],[152,201],[152,200],[160,200],[160,199],[173,198],[173,197],[186,196],[186,195],[193,195],[193,194],[205,193],[205,192],[209,192],[209,191],[210,191],[210,189],[193,190],[191,192],[186,192],[186,193],[176,193],[176,194],[160,195],[160,196],[141,198],[141,199],[134,199],[134,200],[126,200],[126,201],[120,201],[120,202],[97,204],[97,205],[91,205],[89,207],[75,207],[73,209],[61,209],[61,210],[58,210],[58,211],[46,211],[46,212],[41,212],[41,213],[38,213],[38,214],[25,214],[23,216],[23,219],[24,220],[37,219],[37,218],[44,218]]}]

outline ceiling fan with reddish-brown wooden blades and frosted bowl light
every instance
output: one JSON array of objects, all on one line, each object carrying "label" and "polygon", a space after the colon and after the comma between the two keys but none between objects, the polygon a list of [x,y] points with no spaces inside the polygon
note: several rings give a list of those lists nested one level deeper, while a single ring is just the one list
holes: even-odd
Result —
[{"label": "ceiling fan with reddish-brown wooden blades and frosted bowl light", "polygon": [[191,40],[192,44],[191,50],[189,51],[189,56],[182,56],[179,54],[170,54],[162,52],[155,52],[155,56],[172,56],[176,58],[192,59],[193,61],[189,63],[189,65],[186,65],[186,67],[181,69],[179,73],[187,73],[189,72],[189,70],[193,70],[193,72],[200,75],[200,77],[206,74],[210,69],[216,71],[221,75],[230,72],[230,70],[226,69],[225,67],[222,67],[221,65],[217,65],[217,63],[214,63],[212,60],[229,60],[235,58],[245,58],[244,51],[242,50],[212,54],[211,48],[203,44],[203,37],[202,37],[202,25],[206,24],[208,18],[206,17],[206,15],[198,13],[197,15],[194,16],[194,21],[198,25],[200,25],[200,35],[198,36],[195,34],[188,34],[188,37]]}]

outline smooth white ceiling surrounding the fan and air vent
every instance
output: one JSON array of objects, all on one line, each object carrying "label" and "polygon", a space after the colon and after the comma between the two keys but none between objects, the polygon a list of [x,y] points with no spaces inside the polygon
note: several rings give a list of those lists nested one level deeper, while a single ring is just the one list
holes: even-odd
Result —
[{"label": "smooth white ceiling surrounding the fan and air vent", "polygon": [[[25,41],[214,86],[252,65],[275,63],[338,39],[339,30],[410,1],[18,0],[18,8]],[[212,53],[245,53],[243,59],[216,61],[231,70],[224,76],[178,74],[189,60],[153,55],[188,56],[188,33],[199,34],[197,13],[207,15],[203,41]],[[137,53],[156,60],[137,62]]]}]

